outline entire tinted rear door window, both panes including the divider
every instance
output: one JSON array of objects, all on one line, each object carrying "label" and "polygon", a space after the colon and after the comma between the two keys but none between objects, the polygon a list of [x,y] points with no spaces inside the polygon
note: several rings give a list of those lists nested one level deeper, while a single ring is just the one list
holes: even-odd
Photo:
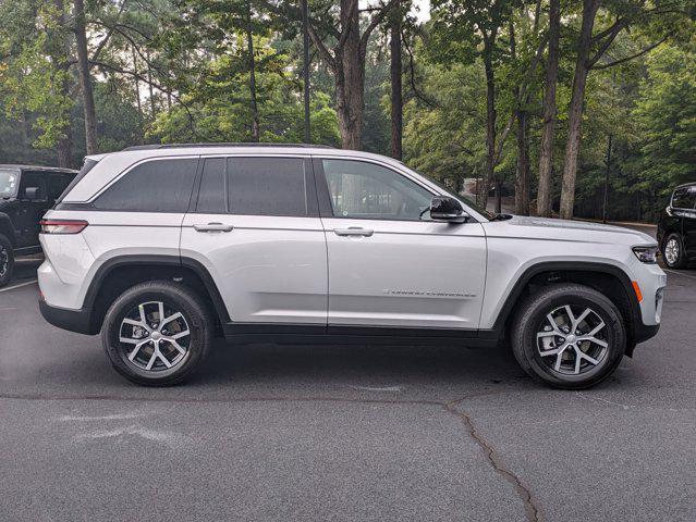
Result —
[{"label": "entire tinted rear door window, both panes including the divider", "polygon": [[306,216],[316,207],[308,176],[301,158],[210,158],[204,163],[196,211]]}]

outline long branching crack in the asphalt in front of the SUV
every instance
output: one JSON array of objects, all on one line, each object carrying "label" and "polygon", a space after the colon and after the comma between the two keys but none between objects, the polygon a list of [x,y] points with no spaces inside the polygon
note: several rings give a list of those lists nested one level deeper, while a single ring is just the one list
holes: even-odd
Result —
[{"label": "long branching crack in the asphalt in front of the SUV", "polygon": [[522,478],[513,471],[508,469],[502,462],[500,452],[488,442],[476,428],[472,415],[465,411],[457,409],[457,405],[462,401],[489,395],[503,394],[502,389],[484,389],[466,394],[459,399],[445,400],[427,400],[427,399],[370,399],[370,398],[349,398],[349,397],[231,397],[231,398],[169,398],[169,397],[117,397],[108,395],[89,395],[89,396],[57,396],[41,394],[0,394],[0,400],[46,400],[46,401],[65,401],[65,400],[110,400],[115,402],[181,402],[181,403],[200,403],[200,402],[345,402],[345,403],[378,403],[378,405],[425,405],[437,406],[445,412],[460,419],[467,428],[467,434],[472,440],[484,451],[488,463],[493,471],[501,475],[508,483],[512,484],[515,492],[524,505],[525,515],[529,522],[542,522],[541,511],[537,500],[532,495],[532,490],[526,486]]}]

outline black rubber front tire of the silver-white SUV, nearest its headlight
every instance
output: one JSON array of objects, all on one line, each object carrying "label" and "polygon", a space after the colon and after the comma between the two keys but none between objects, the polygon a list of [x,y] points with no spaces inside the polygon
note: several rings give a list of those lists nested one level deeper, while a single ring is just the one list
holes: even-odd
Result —
[{"label": "black rubber front tire of the silver-white SUV, nearest its headlight", "polygon": [[[578,347],[584,348],[583,352],[596,358],[597,364],[590,364],[584,357],[578,357],[576,355],[578,350],[573,346],[564,349],[561,353],[562,366],[559,370],[553,368],[558,362],[558,355],[541,356],[539,344],[558,343],[562,348],[567,346],[567,339],[575,338],[573,334],[577,332],[570,334],[563,332],[563,337],[561,337],[563,340],[559,340],[559,336],[553,336],[551,332],[546,332],[547,328],[554,331],[548,320],[551,312],[555,311],[557,314],[570,316],[563,308],[566,304],[571,307],[571,310],[591,310],[587,319],[578,323],[585,330],[591,328],[591,321],[595,321],[593,324],[597,326],[601,324],[600,320],[605,323],[605,327],[596,335],[599,336],[597,339],[607,344],[606,347],[589,341],[577,344]],[[578,319],[583,312],[572,313],[575,319]],[[558,323],[557,319],[554,319],[554,323]],[[577,284],[551,285],[528,296],[521,303],[511,328],[512,351],[522,369],[535,380],[555,388],[582,389],[595,386],[613,373],[626,349],[625,326],[614,303],[599,291]],[[565,326],[557,325],[555,328],[565,328]],[[578,332],[581,332],[579,327]],[[589,333],[586,331],[582,335]],[[537,335],[544,337],[537,339]],[[551,339],[545,340],[549,336]],[[558,345],[551,345],[551,348],[560,349]],[[601,352],[601,357],[594,356],[596,352],[590,353],[589,350],[598,350]],[[546,347],[544,351],[547,351]],[[569,358],[569,360],[565,361],[564,358]],[[570,372],[575,371],[577,359],[584,366],[579,369],[578,374],[572,374]],[[567,366],[573,368],[569,370]]]}]

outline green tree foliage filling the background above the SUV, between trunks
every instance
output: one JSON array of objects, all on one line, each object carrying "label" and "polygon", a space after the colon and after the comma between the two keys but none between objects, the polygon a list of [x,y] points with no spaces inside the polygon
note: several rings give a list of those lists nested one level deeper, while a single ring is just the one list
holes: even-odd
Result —
[{"label": "green tree foliage filling the background above the SUV, between trunks", "polygon": [[[615,24],[625,25],[588,77],[578,215],[601,214],[607,173],[614,219],[651,219],[674,185],[696,179],[695,3],[602,2],[595,24],[600,37],[590,54],[602,50]],[[84,154],[72,2],[62,2],[63,12],[60,5],[60,0],[0,1],[0,162],[54,164],[66,137],[74,163]],[[529,64],[545,41],[548,0],[539,8],[537,21],[535,0],[432,0],[431,22],[419,25],[407,16],[403,142],[408,164],[451,187],[481,177],[486,122],[494,115],[497,140],[505,138],[494,178],[511,189],[517,128],[506,127],[511,114],[523,110],[530,122],[534,199],[545,60],[532,71]],[[302,140],[296,2],[95,0],[86,9],[100,150],[146,141],[251,140],[249,28],[260,139]],[[332,49],[340,29],[337,2],[312,0],[309,9],[317,34]],[[562,2],[557,200],[581,10],[582,2]],[[369,15],[364,13],[365,20]],[[365,66],[363,147],[380,153],[390,151],[388,41],[384,30],[373,33]],[[312,54],[312,138],[339,146],[334,77],[316,46]],[[607,67],[615,61],[620,64]],[[494,114],[486,107],[486,63],[494,78]],[[522,85],[527,85],[525,97],[520,96]]]}]

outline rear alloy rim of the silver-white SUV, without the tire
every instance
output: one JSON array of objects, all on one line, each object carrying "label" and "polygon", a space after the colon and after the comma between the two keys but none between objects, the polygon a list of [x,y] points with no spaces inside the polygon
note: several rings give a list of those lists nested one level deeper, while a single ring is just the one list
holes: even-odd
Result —
[{"label": "rear alloy rim of the silver-white SUV, without the tire", "polygon": [[148,301],[125,314],[119,343],[131,364],[161,372],[180,365],[188,357],[191,330],[181,311],[162,301]]}]

